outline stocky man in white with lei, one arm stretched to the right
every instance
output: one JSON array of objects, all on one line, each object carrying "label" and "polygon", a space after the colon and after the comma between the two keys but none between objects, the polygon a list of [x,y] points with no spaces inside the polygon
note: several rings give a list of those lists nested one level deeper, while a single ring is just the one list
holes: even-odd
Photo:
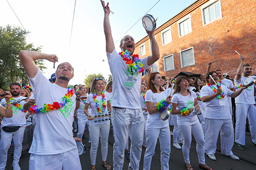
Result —
[{"label": "stocky man in white with lei, one arm stretched to the right", "polygon": [[221,154],[239,160],[231,151],[234,143],[234,129],[227,98],[239,96],[247,86],[242,85],[239,90],[233,92],[224,85],[218,83],[215,85],[215,82],[218,82],[216,72],[207,73],[206,80],[208,83],[201,90],[201,98],[205,103],[205,153],[211,160],[216,160],[216,144],[221,131]]}]

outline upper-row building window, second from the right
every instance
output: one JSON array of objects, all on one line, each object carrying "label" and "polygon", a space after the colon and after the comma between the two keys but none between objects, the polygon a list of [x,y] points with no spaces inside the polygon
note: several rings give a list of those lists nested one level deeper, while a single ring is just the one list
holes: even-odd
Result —
[{"label": "upper-row building window, second from the right", "polygon": [[179,27],[179,36],[183,36],[192,32],[190,14],[181,18],[178,21],[178,27]]}]

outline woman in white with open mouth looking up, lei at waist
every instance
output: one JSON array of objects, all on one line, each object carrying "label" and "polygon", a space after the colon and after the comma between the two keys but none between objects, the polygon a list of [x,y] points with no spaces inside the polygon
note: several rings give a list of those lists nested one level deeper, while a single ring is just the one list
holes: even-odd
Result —
[{"label": "woman in white with open mouth looking up, lei at waist", "polygon": [[[202,126],[196,115],[192,114],[194,106],[197,103],[197,95],[193,91],[188,90],[188,82],[185,76],[179,76],[175,81],[174,95],[172,97],[172,114],[177,115],[177,124],[183,136],[182,153],[185,161],[186,169],[192,170],[190,165],[190,145],[192,135],[197,141],[197,155],[199,159],[199,167],[211,170],[205,165],[204,157],[204,133]],[[196,110],[200,109],[199,106]]]}]

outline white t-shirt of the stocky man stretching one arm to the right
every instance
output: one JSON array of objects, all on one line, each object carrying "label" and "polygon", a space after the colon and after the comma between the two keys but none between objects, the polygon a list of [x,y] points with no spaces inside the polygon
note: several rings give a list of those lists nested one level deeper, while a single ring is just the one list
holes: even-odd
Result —
[{"label": "white t-shirt of the stocky man stretching one arm to the right", "polygon": [[[216,85],[213,85],[213,86],[217,89]],[[220,99],[217,99],[216,97],[209,102],[205,102],[205,112],[204,112],[205,118],[211,118],[211,119],[231,118],[229,104],[228,104],[228,96],[232,95],[233,91],[229,90],[225,85],[221,85],[221,89],[225,94],[225,97],[224,97],[225,106],[220,106],[220,102],[219,102]],[[214,93],[215,92],[208,85],[204,86],[201,89],[201,97],[210,96]]]}]

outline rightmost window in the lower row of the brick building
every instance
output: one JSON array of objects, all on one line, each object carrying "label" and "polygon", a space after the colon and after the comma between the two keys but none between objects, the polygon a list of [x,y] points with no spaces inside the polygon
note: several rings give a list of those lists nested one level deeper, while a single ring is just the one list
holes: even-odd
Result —
[{"label": "rightmost window in the lower row of the brick building", "polygon": [[194,65],[194,48],[188,48],[180,52],[181,67]]}]

